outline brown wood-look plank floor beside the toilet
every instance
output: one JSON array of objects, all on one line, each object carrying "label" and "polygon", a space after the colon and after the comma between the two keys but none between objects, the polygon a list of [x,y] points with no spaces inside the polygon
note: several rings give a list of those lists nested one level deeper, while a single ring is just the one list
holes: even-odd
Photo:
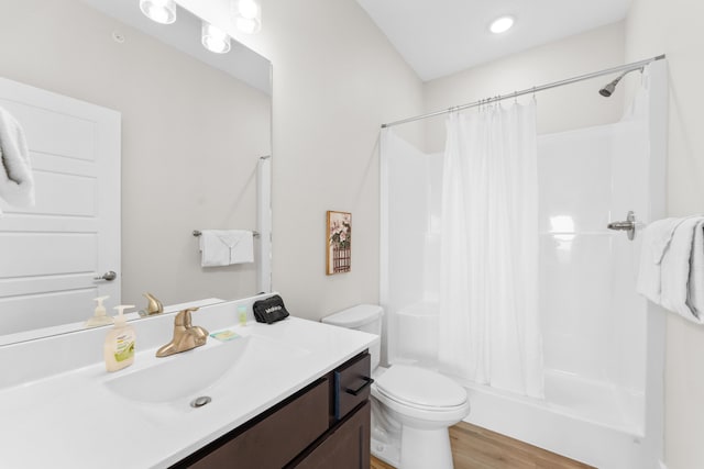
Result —
[{"label": "brown wood-look plank floor beside the toilet", "polygon": [[[594,469],[466,422],[450,427],[450,444],[454,469]],[[371,469],[394,468],[372,457]]]}]

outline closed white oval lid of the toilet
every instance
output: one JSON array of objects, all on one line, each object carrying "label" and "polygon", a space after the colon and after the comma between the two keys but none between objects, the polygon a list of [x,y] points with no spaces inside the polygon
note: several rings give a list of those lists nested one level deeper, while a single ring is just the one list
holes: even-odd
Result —
[{"label": "closed white oval lid of the toilet", "polygon": [[398,402],[429,407],[452,407],[466,402],[466,391],[435,371],[394,365],[376,379],[376,387]]}]

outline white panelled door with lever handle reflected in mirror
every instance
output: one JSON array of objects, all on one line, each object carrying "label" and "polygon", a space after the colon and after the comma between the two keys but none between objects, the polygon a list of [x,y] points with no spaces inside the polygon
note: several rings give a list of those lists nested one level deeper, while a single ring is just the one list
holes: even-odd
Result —
[{"label": "white panelled door with lever handle reflected in mirror", "polygon": [[0,199],[0,335],[85,321],[94,298],[120,301],[120,113],[2,78],[0,107],[24,129],[36,198]]}]

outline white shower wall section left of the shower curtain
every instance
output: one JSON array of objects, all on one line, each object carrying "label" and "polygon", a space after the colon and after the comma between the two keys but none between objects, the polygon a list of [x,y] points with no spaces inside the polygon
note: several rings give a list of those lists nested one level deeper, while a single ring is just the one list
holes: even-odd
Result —
[{"label": "white shower wall section left of the shower curtain", "polygon": [[[384,135],[381,150],[381,277],[388,287],[381,288],[380,297],[391,313],[438,301],[442,154],[427,155],[395,133]],[[394,314],[385,322],[384,334],[398,327]],[[383,362],[398,346],[395,335],[385,338]],[[433,340],[429,334],[418,346],[432,356]]]}]

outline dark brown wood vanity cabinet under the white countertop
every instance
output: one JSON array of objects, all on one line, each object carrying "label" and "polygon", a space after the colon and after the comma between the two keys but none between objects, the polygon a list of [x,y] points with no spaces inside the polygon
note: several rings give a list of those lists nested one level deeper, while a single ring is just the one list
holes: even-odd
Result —
[{"label": "dark brown wood vanity cabinet under the white countertop", "polygon": [[173,468],[369,469],[370,383],[365,351]]}]

